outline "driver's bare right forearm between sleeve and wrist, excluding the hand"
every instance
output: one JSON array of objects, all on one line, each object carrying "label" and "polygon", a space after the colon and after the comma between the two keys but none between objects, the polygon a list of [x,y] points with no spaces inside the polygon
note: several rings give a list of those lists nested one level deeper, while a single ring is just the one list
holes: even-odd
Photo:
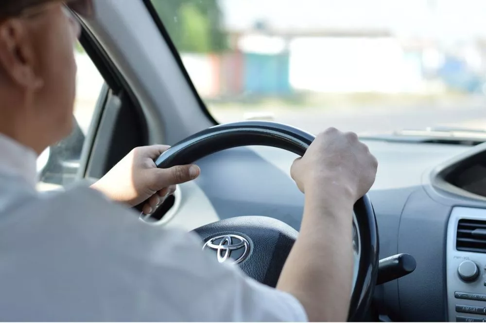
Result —
[{"label": "driver's bare right forearm between sleeve and wrist, excluding the hand", "polygon": [[277,288],[293,294],[310,321],[347,320],[352,285],[353,201],[306,193],[300,234]]}]

